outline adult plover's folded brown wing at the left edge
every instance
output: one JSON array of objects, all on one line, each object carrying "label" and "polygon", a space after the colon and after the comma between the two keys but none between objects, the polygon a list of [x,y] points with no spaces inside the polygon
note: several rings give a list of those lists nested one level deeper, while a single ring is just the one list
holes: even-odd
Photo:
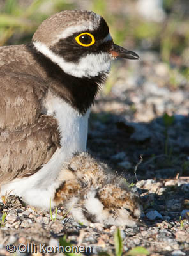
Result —
[{"label": "adult plover's folded brown wing at the left edge", "polygon": [[0,184],[37,172],[59,146],[56,119],[42,115],[46,90],[37,77],[0,71]]}]

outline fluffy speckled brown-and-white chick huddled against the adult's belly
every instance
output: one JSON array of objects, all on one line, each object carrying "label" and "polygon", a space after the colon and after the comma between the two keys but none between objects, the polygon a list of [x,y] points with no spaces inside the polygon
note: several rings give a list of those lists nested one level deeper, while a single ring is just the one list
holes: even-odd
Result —
[{"label": "fluffy speckled brown-and-white chick huddled against the adult's belly", "polygon": [[54,202],[66,205],[75,220],[85,225],[137,226],[142,211],[139,198],[107,164],[82,152],[64,166],[58,180],[61,186]]}]

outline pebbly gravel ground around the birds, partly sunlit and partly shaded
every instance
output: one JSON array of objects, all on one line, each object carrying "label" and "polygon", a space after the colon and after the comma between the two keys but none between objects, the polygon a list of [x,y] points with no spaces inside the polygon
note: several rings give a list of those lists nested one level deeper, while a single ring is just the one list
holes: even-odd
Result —
[{"label": "pebbly gravel ground around the birds, partly sunlit and partly shaded", "polygon": [[[112,81],[109,95],[103,88],[91,113],[88,150],[135,183],[133,191],[142,200],[147,227],[120,227],[123,253],[143,246],[153,256],[187,256],[188,82],[176,73],[178,86],[172,86],[169,67],[155,52],[139,54],[140,61],[115,63],[110,79],[116,77],[116,81]],[[0,208],[1,217],[7,214],[1,221],[0,255],[11,255],[6,250],[8,243],[36,244],[42,255],[39,244],[57,245],[64,235],[72,244],[92,246],[93,255],[115,254],[115,226],[86,227],[69,213],[63,218],[63,208],[52,221],[49,213],[25,205],[17,196],[9,196]]]}]

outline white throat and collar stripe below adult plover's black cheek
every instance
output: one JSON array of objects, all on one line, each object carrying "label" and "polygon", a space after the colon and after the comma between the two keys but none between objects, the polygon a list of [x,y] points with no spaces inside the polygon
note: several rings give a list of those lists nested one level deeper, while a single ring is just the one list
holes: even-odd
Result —
[{"label": "white throat and collar stripe below adult plover's black cheek", "polygon": [[99,76],[102,73],[107,73],[110,70],[112,58],[108,52],[87,54],[80,58],[77,63],[73,63],[65,61],[63,56],[58,56],[41,42],[34,42],[33,44],[37,51],[59,65],[64,72],[71,76],[90,78]]}]

